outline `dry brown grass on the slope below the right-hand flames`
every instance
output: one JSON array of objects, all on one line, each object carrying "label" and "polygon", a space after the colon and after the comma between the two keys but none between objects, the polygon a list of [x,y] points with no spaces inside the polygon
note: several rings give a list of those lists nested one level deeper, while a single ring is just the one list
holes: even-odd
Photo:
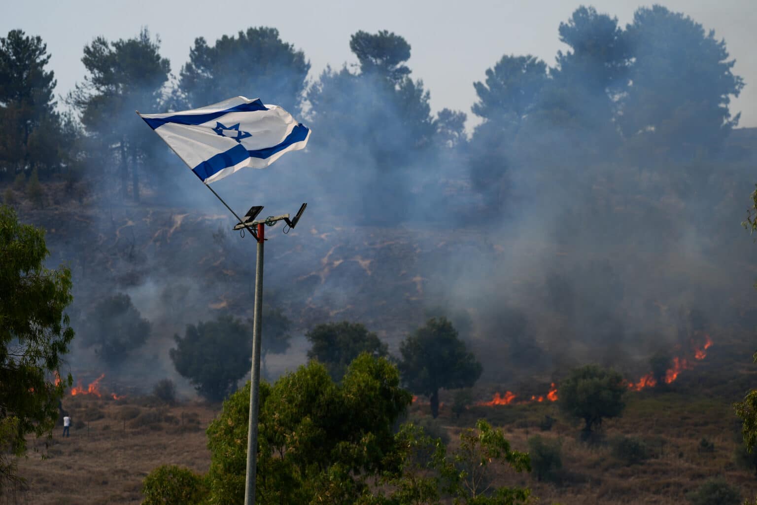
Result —
[{"label": "dry brown grass on the slope below the right-hand flames", "polygon": [[[548,432],[538,428],[545,415],[558,419]],[[428,406],[411,407],[410,416],[428,416]],[[730,399],[692,397],[685,386],[675,391],[629,395],[624,416],[605,421],[603,440],[594,444],[580,441],[580,427],[562,419],[555,404],[471,407],[460,419],[454,419],[445,409],[440,415],[453,440],[460,426],[472,426],[478,418],[501,426],[518,450],[528,450],[528,438],[534,435],[562,440],[559,482],[537,482],[531,475],[514,472],[504,472],[497,479],[500,485],[530,487],[540,503],[681,505],[688,503],[689,491],[714,476],[722,476],[740,488],[745,498],[757,496],[754,470],[741,469],[734,463],[740,439]],[[613,457],[610,441],[619,435],[643,441],[650,459],[627,465]],[[700,450],[702,438],[714,443],[712,452]]]}]

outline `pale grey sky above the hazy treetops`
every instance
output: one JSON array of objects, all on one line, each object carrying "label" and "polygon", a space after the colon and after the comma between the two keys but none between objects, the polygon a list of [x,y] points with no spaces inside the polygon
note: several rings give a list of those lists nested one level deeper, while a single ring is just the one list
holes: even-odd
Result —
[{"label": "pale grey sky above the hazy treetops", "polygon": [[[431,108],[451,108],[469,115],[468,126],[477,123],[470,108],[475,102],[472,83],[505,54],[531,54],[552,65],[556,52],[565,49],[557,29],[578,5],[618,17],[630,23],[634,11],[649,3],[624,0],[566,2],[565,0],[288,0],[287,2],[207,2],[198,0],[132,0],[131,2],[4,2],[0,34],[20,28],[39,35],[52,55],[50,67],[58,79],[58,95],[65,95],[85,76],[81,63],[85,45],[96,36],[109,40],[136,36],[142,26],[160,36],[161,54],[178,74],[188,59],[195,37],[212,45],[224,34],[249,26],[274,26],[285,42],[302,49],[310,60],[310,78],[326,67],[356,63],[350,53],[352,33],[389,30],[410,42],[409,66],[431,92]],[[741,112],[740,126],[757,126],[757,8],[755,0],[659,1],[681,11],[725,39],[734,73],[746,86],[731,103],[731,113]],[[254,97],[249,97],[254,98]],[[265,101],[265,97],[260,97]],[[157,111],[155,111],[157,112]]]}]

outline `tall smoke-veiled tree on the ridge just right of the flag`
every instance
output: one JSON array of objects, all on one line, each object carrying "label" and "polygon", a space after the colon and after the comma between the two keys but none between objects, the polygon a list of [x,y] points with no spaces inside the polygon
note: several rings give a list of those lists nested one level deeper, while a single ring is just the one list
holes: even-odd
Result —
[{"label": "tall smoke-veiled tree on the ridge just right of the flag", "polygon": [[[435,146],[437,135],[430,95],[422,81],[410,78],[410,44],[403,37],[357,32],[350,48],[359,61],[357,71],[346,64],[341,70],[328,67],[307,92],[313,130],[329,132],[313,152],[327,161],[322,169],[329,180],[326,187],[344,187],[341,167],[361,167],[349,176],[357,185],[351,208],[362,209],[360,219],[407,219],[413,198],[408,185],[397,185],[397,176],[424,175],[426,165],[419,161]],[[339,164],[331,163],[335,152]],[[374,197],[363,198],[365,191]]]}]

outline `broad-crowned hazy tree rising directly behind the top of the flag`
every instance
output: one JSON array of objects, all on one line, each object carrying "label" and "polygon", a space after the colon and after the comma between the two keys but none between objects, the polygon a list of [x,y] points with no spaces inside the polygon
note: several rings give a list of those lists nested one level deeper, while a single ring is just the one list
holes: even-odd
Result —
[{"label": "broad-crowned hazy tree rising directly behind the top of the flag", "polygon": [[281,105],[296,117],[309,71],[303,51],[282,41],[276,28],[260,26],[224,35],[213,46],[195,39],[179,73],[179,90],[190,107],[245,95]]}]

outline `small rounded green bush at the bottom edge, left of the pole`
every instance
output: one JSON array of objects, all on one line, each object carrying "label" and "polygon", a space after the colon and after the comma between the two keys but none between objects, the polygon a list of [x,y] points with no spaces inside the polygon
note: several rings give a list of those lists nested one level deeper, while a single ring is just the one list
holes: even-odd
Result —
[{"label": "small rounded green bush at the bottom edge, left of the pole", "polygon": [[142,505],[199,503],[207,493],[200,475],[175,465],[158,466],[145,477]]}]

